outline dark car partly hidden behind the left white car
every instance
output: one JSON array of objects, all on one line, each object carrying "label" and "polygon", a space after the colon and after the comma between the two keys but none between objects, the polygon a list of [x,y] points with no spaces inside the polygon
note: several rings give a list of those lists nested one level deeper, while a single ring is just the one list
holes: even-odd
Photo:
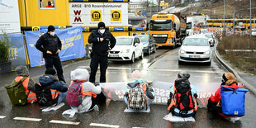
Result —
[{"label": "dark car partly hidden behind the left white car", "polygon": [[144,47],[144,53],[151,55],[151,53],[155,53],[156,51],[156,45],[155,40],[153,36],[149,35],[136,35],[136,37],[139,37],[143,47]]}]

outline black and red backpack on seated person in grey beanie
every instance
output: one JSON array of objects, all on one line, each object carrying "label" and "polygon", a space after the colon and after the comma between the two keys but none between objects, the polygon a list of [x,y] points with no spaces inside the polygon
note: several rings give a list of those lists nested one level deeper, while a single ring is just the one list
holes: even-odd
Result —
[{"label": "black and red backpack on seated person in grey beanie", "polygon": [[176,97],[176,107],[180,110],[180,114],[187,114],[187,111],[194,109],[195,105],[192,99],[190,83],[184,82],[175,86],[174,96]]}]

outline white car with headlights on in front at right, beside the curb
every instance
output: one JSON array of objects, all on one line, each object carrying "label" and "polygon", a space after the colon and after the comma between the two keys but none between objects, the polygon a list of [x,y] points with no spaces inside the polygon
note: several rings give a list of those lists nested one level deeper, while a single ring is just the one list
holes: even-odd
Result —
[{"label": "white car with headlights on in front at right, beside the curb", "polygon": [[197,62],[211,65],[211,46],[203,36],[188,36],[178,51],[178,64]]}]

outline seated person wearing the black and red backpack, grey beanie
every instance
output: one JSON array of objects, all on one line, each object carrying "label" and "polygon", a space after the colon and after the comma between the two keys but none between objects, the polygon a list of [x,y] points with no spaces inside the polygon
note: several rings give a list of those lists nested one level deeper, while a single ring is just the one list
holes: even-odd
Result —
[{"label": "seated person wearing the black and red backpack, grey beanie", "polygon": [[168,111],[174,116],[189,117],[197,113],[197,90],[190,84],[189,73],[178,73],[174,86],[170,89]]}]

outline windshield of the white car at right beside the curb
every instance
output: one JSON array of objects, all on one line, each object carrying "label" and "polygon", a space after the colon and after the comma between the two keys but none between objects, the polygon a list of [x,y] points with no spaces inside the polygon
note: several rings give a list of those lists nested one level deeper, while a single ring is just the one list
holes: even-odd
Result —
[{"label": "windshield of the white car at right beside the curb", "polygon": [[183,41],[183,45],[207,46],[209,45],[209,43],[206,39],[202,39],[202,38],[187,38]]}]

